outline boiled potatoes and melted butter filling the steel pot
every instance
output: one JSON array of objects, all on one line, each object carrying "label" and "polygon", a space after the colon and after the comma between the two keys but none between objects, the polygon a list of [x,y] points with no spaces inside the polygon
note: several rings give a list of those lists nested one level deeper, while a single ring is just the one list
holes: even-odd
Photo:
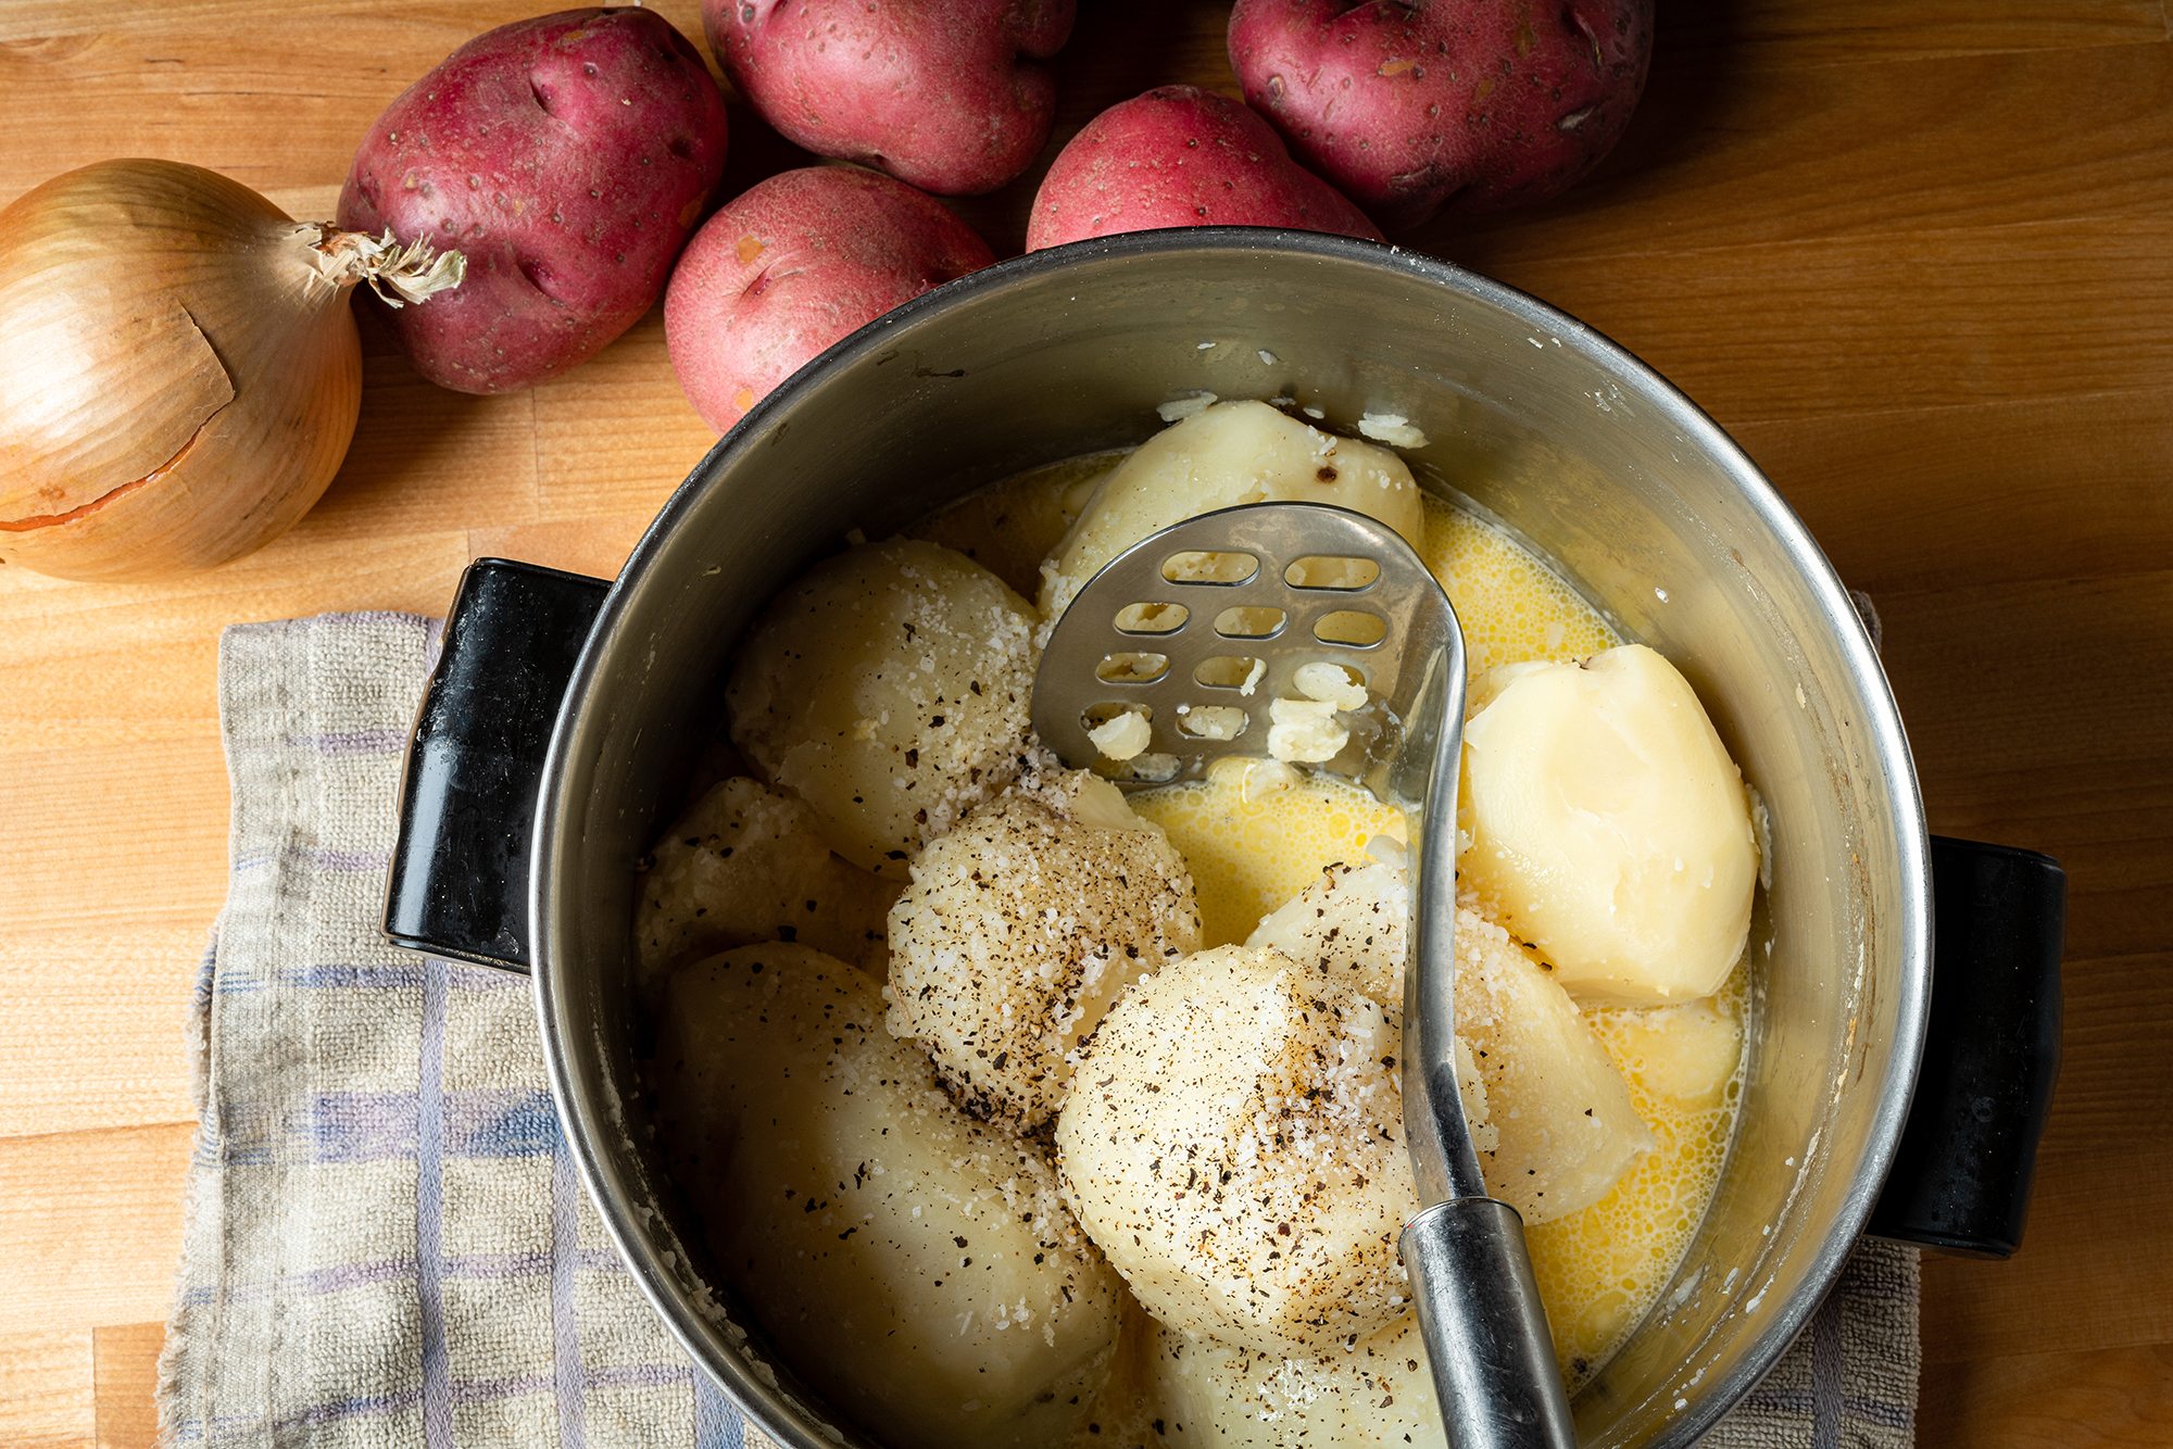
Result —
[{"label": "boiled potatoes and melted butter filling the steel pot", "polygon": [[884,1442],[1443,1442],[1395,1258],[1402,819],[1267,760],[1126,799],[1023,728],[1043,610],[1260,497],[1382,517],[1465,623],[1458,1062],[1573,1384],[1719,1180],[1758,854],[1695,695],[1393,452],[1204,406],[787,589],[728,684],[743,773],[645,880],[671,1171]]}]

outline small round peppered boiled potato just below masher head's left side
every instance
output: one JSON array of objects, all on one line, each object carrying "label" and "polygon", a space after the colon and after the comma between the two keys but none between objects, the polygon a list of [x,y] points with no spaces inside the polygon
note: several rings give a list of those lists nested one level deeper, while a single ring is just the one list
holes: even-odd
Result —
[{"label": "small round peppered boiled potato just below masher head's left side", "polygon": [[989,1117],[1039,1127],[1130,982],[1199,949],[1193,878],[1108,780],[1006,791],[913,858],[889,1028]]}]

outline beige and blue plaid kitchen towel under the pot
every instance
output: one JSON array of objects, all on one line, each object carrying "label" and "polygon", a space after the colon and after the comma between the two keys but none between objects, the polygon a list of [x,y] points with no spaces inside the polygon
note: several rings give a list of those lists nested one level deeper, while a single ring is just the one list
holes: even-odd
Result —
[{"label": "beige and blue plaid kitchen towel under the pot", "polygon": [[[378,936],[435,643],[409,615],[222,639],[233,880],[191,1017],[200,1119],[163,1434],[763,1449],[582,1193],[526,982]],[[1917,1253],[1867,1240],[1706,1442],[1904,1449],[1914,1401]]]}]

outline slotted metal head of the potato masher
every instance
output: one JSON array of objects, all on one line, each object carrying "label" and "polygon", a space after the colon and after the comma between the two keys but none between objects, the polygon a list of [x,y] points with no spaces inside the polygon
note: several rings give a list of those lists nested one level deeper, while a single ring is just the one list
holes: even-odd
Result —
[{"label": "slotted metal head of the potato masher", "polygon": [[[1462,630],[1410,543],[1349,508],[1221,508],[1113,558],[1041,654],[1034,732],[1073,769],[1167,784],[1226,754],[1269,758],[1271,706],[1306,697],[1306,665],[1341,667],[1369,695],[1334,717],[1341,749],[1306,763],[1417,804],[1430,760],[1417,776],[1393,769],[1404,721],[1425,713],[1428,669],[1462,695]],[[1145,719],[1147,743],[1119,763],[1089,732],[1126,713]]]}]

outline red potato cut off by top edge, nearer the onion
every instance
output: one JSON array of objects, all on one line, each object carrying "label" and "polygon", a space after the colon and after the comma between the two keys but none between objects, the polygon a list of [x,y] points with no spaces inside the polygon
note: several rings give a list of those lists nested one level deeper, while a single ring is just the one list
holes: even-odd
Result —
[{"label": "red potato cut off by top edge, nearer the onion", "polygon": [[702,0],[702,30],[748,104],[795,146],[939,196],[980,196],[1047,143],[1056,80],[1032,61],[1063,48],[1076,9],[1076,0]]}]

